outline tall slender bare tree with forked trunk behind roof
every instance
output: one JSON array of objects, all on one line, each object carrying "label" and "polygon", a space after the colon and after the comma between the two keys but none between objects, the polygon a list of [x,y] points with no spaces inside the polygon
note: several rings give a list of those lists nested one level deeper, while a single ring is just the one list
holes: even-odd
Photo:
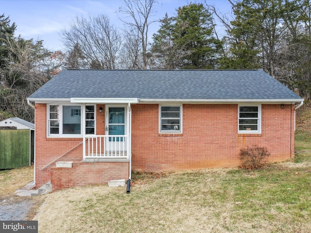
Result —
[{"label": "tall slender bare tree with forked trunk behind roof", "polygon": [[131,35],[139,35],[142,50],[143,68],[147,68],[148,29],[155,20],[150,20],[153,15],[153,6],[156,0],[124,0],[124,5],[119,12],[131,17],[131,21],[120,18],[121,21],[132,30]]}]

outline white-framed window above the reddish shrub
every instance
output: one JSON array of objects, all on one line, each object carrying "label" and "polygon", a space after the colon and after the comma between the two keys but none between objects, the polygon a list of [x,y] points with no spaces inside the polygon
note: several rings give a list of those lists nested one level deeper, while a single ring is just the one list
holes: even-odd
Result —
[{"label": "white-framed window above the reddish shrub", "polygon": [[239,105],[238,133],[261,133],[261,105]]}]

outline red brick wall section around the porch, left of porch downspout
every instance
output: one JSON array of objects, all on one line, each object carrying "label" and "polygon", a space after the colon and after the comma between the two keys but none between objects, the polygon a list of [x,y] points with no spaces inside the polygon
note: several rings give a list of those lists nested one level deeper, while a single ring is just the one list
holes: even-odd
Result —
[{"label": "red brick wall section around the porch, left of porch downspout", "polygon": [[[97,109],[104,105],[97,105]],[[85,185],[88,183],[103,183],[109,179],[128,179],[128,163],[80,163],[83,159],[82,138],[47,138],[46,104],[35,105],[35,183],[36,188],[51,181],[55,188],[61,187],[59,180],[65,186]],[[97,111],[97,134],[104,134],[104,113]],[[75,147],[75,148],[74,148]],[[73,150],[71,150],[74,148]],[[69,151],[70,150],[70,151]],[[65,155],[64,155],[65,154]],[[63,156],[62,156],[63,155]],[[60,157],[61,156],[61,157]],[[59,158],[60,157],[60,158]],[[75,169],[55,167],[57,161],[73,161]],[[52,163],[51,165],[49,165]],[[49,166],[47,166],[49,165]],[[126,172],[124,171],[126,167]],[[120,170],[120,171],[119,171]],[[118,172],[117,172],[118,171]],[[59,175],[56,175],[59,173]],[[114,175],[112,175],[114,174]],[[75,176],[74,179],[73,175]],[[121,178],[120,178],[121,177]],[[87,178],[87,179],[86,179]],[[90,180],[88,180],[88,178]],[[71,181],[70,181],[71,179]],[[87,181],[86,181],[87,180]],[[70,182],[69,182],[70,181]]]}]

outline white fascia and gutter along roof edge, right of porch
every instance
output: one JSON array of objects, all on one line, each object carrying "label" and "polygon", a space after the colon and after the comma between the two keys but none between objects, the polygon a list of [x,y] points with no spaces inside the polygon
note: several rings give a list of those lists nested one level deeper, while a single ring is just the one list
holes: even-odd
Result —
[{"label": "white fascia and gutter along roof edge, right of porch", "polygon": [[303,99],[138,99],[144,103],[182,102],[182,103],[288,103],[301,102]]}]

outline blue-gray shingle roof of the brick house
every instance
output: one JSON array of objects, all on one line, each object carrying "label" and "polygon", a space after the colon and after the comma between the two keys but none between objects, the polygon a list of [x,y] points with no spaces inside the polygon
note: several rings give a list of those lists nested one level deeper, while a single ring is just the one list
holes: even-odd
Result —
[{"label": "blue-gray shingle roof of the brick house", "polygon": [[263,70],[63,70],[30,99],[301,99]]}]

